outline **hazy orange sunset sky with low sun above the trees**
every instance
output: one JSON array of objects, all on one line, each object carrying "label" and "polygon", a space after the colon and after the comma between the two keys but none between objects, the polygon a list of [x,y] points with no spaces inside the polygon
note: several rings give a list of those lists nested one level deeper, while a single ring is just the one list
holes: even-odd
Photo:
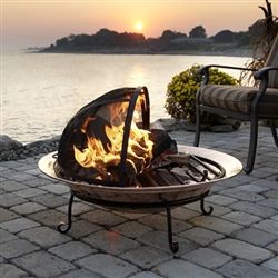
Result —
[{"label": "hazy orange sunset sky with low sun above the trees", "polygon": [[[48,47],[69,34],[96,33],[101,28],[141,32],[189,33],[203,26],[207,34],[229,29],[246,31],[264,18],[265,0],[0,0],[3,49]],[[278,0],[271,0],[278,16]]]}]

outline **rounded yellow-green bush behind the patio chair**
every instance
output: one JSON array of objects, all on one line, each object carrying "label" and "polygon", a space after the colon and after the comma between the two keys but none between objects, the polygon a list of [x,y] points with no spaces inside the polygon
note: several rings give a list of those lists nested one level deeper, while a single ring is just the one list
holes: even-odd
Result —
[{"label": "rounded yellow-green bush behind the patio chair", "polygon": [[[195,64],[175,76],[167,88],[166,111],[177,120],[187,119],[195,122],[196,93],[201,83],[201,66]],[[218,69],[210,69],[209,82],[215,85],[236,85],[238,80]]]}]

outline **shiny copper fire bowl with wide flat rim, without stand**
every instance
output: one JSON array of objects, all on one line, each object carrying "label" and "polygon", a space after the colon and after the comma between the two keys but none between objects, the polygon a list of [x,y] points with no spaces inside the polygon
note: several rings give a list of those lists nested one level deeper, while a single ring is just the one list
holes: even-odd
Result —
[{"label": "shiny copper fire bowl with wide flat rim, without stand", "polygon": [[91,185],[83,181],[72,181],[57,176],[54,172],[56,158],[51,152],[42,157],[39,161],[39,169],[53,178],[64,182],[70,187],[72,193],[78,198],[91,201],[92,203],[98,201],[112,202],[112,203],[132,203],[135,208],[140,205],[153,205],[153,203],[166,203],[177,202],[186,199],[195,198],[198,196],[205,196],[209,192],[211,186],[215,182],[221,182],[225,179],[231,178],[242,170],[241,162],[227,153],[190,146],[178,146],[179,152],[195,155],[201,158],[208,158],[217,163],[220,163],[225,169],[225,176],[210,180],[198,182],[193,185],[172,185],[161,187],[106,187],[99,185]]}]

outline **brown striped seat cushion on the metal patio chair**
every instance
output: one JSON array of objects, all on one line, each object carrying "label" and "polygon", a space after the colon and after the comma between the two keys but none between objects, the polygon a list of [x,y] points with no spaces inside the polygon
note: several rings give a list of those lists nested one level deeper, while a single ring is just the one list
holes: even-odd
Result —
[{"label": "brown striped seat cushion on the metal patio chair", "polygon": [[[205,85],[200,88],[200,102],[210,107],[250,113],[258,88],[227,85]],[[278,89],[267,89],[259,103],[260,117],[278,117]]]}]

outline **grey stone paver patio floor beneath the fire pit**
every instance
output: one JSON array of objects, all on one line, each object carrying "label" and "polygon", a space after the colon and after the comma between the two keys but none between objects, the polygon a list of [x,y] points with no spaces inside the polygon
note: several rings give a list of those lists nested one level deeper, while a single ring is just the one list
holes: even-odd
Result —
[{"label": "grey stone paver patio floor beneath the fire pit", "polygon": [[[201,147],[246,161],[248,125],[231,133],[201,135]],[[192,146],[193,132],[171,132]],[[42,155],[41,155],[42,156]],[[259,128],[255,170],[216,183],[202,216],[199,202],[172,210],[168,248],[166,214],[123,214],[78,201],[67,235],[69,188],[48,179],[41,156],[0,162],[0,277],[270,278],[278,277],[278,150]]]}]

